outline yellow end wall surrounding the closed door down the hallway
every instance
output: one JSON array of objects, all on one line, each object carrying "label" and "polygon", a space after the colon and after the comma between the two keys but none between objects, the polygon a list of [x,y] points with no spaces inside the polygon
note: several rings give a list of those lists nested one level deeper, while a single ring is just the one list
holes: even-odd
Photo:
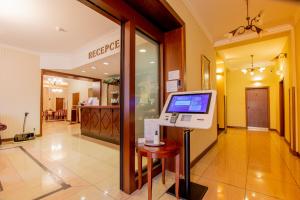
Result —
[{"label": "yellow end wall surrounding the closed door down the hallway", "polygon": [[[254,76],[244,75],[240,70],[227,71],[228,126],[246,127],[247,87],[269,87],[270,128],[279,130],[279,76],[276,74],[276,68],[277,66],[267,67],[264,72],[258,72]],[[255,78],[262,80],[255,81]]]}]

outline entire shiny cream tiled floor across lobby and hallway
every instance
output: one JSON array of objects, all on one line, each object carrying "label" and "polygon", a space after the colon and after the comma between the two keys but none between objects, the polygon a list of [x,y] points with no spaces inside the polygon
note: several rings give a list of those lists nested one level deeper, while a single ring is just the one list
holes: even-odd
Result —
[{"label": "entire shiny cream tiled floor across lobby and hallway", "polygon": [[[1,146],[0,200],[51,192],[42,199],[147,199],[147,185],[130,196],[118,189],[117,145],[81,137],[78,125],[65,122],[47,123],[44,132],[34,141]],[[36,161],[14,148],[20,145]],[[208,186],[204,199],[300,199],[300,159],[276,133],[229,129],[191,173],[194,182]],[[156,177],[153,199],[174,199],[164,194],[173,182],[172,173],[166,185]],[[71,187],[61,189],[64,184]]]}]

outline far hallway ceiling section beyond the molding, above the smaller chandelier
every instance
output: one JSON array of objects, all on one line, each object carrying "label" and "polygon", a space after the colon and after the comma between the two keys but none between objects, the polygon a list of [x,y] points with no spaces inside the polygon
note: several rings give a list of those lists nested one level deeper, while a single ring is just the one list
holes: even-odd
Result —
[{"label": "far hallway ceiling section beyond the molding, above the smaller chandelier", "polygon": [[218,55],[225,61],[226,67],[230,70],[237,70],[251,66],[251,57],[254,55],[254,65],[264,65],[272,61],[283,52],[288,41],[286,37],[280,37],[242,46],[236,46],[218,51]]}]

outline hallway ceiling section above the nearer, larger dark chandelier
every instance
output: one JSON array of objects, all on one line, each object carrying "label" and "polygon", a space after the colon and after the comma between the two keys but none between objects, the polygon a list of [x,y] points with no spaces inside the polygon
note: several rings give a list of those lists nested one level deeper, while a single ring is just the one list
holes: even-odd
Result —
[{"label": "hallway ceiling section above the nearer, larger dark chandelier", "polygon": [[[245,0],[184,0],[212,42],[246,24]],[[292,24],[299,13],[300,3],[291,0],[249,0],[250,16],[264,12],[262,27]]]}]

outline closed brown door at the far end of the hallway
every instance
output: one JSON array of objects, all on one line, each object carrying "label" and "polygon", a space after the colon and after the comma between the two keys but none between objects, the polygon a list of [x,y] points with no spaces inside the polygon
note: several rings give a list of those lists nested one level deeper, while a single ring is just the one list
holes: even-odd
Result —
[{"label": "closed brown door at the far end of the hallway", "polygon": [[247,126],[269,128],[269,89],[246,89]]}]

